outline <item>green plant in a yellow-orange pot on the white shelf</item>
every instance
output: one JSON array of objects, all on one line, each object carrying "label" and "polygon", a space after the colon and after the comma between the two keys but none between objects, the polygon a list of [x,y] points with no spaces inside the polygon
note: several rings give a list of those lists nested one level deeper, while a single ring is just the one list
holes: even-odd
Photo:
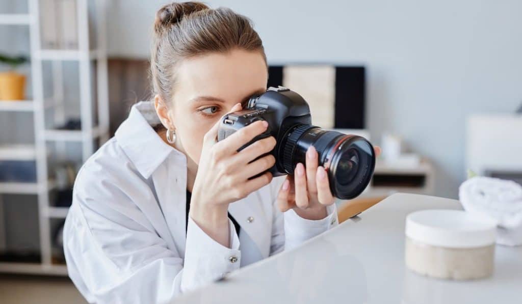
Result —
[{"label": "green plant in a yellow-orange pot on the white shelf", "polygon": [[0,64],[8,66],[7,71],[0,72],[0,100],[25,99],[26,76],[17,73],[15,69],[26,62],[27,58],[24,56],[0,54]]}]

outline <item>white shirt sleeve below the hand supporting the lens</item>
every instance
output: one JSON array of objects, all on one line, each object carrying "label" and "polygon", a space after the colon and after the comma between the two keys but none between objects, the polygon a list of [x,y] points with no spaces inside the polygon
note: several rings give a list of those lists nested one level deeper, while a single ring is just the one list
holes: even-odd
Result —
[{"label": "white shirt sleeve below the hand supporting the lens", "polygon": [[298,247],[304,241],[338,225],[336,204],[327,206],[327,215],[321,220],[306,220],[292,209],[284,213],[280,212],[277,206],[277,195],[285,179],[284,175],[278,176],[270,183],[273,210],[270,255]]}]

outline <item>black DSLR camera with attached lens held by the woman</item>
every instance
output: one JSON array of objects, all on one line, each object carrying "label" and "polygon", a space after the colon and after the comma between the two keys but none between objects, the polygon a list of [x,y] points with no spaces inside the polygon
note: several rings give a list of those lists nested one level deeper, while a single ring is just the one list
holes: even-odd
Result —
[{"label": "black DSLR camera with attached lens held by the woman", "polygon": [[293,174],[299,162],[305,165],[306,151],[313,145],[319,156],[318,165],[326,169],[335,197],[352,199],[370,183],[375,168],[372,144],[360,136],[313,126],[310,108],[298,93],[279,86],[251,96],[245,109],[223,116],[218,141],[256,120],[268,121],[267,130],[238,152],[259,139],[274,136],[276,147],[269,154],[274,155],[276,164],[268,169],[273,176]]}]

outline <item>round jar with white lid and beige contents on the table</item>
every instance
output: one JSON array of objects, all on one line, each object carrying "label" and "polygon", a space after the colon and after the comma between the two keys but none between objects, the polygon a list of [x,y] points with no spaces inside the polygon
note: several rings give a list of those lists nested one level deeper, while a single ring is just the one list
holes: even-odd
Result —
[{"label": "round jar with white lid and beige contents on the table", "polygon": [[461,210],[423,210],[406,217],[408,269],[443,279],[493,273],[496,223]]}]

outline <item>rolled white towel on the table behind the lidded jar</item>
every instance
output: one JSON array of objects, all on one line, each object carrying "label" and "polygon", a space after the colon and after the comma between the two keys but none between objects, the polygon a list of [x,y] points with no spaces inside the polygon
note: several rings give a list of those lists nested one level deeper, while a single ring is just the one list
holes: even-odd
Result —
[{"label": "rolled white towel on the table behind the lidded jar", "polygon": [[476,176],[460,185],[459,200],[466,211],[497,222],[497,244],[522,245],[522,186],[512,180]]}]

